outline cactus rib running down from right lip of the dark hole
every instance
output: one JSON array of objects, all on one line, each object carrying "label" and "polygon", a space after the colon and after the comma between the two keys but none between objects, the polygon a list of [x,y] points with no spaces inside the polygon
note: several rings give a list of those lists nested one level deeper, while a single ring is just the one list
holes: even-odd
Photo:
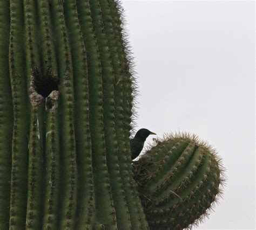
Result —
[{"label": "cactus rib running down from right lip of the dark hole", "polygon": [[43,229],[57,229],[57,218],[59,213],[60,134],[58,97],[59,93],[53,91],[46,99]]}]

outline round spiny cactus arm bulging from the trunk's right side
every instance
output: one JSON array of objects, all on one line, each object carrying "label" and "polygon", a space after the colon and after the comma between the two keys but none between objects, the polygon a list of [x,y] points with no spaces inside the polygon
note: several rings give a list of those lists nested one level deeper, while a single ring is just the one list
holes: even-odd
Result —
[{"label": "round spiny cactus arm bulging from the trunk's right side", "polygon": [[221,196],[225,180],[215,151],[188,134],[156,140],[133,171],[151,229],[198,225]]}]

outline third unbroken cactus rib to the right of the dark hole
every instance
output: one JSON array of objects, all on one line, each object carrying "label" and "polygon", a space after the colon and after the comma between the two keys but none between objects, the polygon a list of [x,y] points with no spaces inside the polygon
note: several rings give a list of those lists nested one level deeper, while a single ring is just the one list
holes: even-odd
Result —
[{"label": "third unbroken cactus rib to the right of the dark hole", "polygon": [[[116,214],[110,191],[109,172],[106,164],[106,149],[103,127],[102,70],[97,41],[93,33],[89,1],[77,1],[78,18],[83,31],[89,72],[90,130],[92,140],[93,178],[97,220],[107,228],[116,228]],[[102,165],[99,167],[99,165]]]}]

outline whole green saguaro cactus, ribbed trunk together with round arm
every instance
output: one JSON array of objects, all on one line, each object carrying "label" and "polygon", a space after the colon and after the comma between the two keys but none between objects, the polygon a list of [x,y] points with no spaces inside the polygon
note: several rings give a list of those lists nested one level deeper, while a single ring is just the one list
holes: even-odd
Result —
[{"label": "whole green saguaro cactus, ribbed trunk together with round arm", "polygon": [[[136,87],[120,9],[0,2],[1,230],[183,228],[219,194],[221,166],[193,138],[171,137],[132,164]],[[190,216],[179,199],[200,210]]]}]

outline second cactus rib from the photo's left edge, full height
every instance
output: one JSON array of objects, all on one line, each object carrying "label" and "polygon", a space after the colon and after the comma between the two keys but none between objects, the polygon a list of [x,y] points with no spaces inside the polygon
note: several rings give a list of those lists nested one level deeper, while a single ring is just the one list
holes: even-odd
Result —
[{"label": "second cactus rib from the photo's left edge, full height", "polygon": [[10,229],[25,226],[28,173],[28,100],[25,76],[24,20],[22,1],[10,1],[10,78],[14,105]]}]

